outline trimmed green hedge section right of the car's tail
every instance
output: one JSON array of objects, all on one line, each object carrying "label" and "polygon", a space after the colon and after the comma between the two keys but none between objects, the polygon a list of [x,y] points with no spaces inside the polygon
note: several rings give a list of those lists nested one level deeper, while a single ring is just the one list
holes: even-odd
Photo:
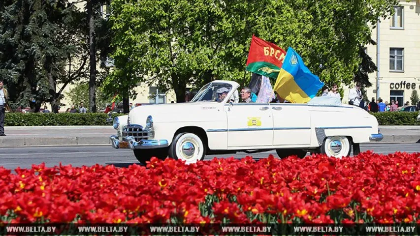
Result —
[{"label": "trimmed green hedge section right of the car's tail", "polygon": [[378,119],[379,125],[420,125],[418,112],[380,112],[371,113]]}]

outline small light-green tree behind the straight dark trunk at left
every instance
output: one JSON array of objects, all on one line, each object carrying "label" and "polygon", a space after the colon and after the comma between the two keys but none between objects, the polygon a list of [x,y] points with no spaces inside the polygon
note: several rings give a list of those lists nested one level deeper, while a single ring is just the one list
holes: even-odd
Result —
[{"label": "small light-green tree behind the straight dark trunk at left", "polygon": [[[100,87],[96,87],[97,90],[96,94],[96,103],[98,110],[104,109],[107,103],[111,103],[112,97],[106,96],[105,93],[102,92]],[[87,82],[80,82],[74,85],[68,92],[65,92],[65,96],[76,106],[79,106],[81,102],[84,103],[86,109],[90,112],[91,110],[86,105],[89,104],[89,83]],[[65,104],[70,106],[71,104]]]}]

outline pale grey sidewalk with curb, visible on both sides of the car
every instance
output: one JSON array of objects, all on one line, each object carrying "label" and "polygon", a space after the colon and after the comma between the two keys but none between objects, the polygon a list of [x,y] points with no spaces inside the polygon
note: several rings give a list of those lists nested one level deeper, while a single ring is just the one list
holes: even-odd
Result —
[{"label": "pale grey sidewalk with curb, visible on both sides of the car", "polygon": [[[384,139],[379,142],[420,143],[420,126],[379,126]],[[4,127],[0,147],[110,145],[111,126],[13,126]]]}]

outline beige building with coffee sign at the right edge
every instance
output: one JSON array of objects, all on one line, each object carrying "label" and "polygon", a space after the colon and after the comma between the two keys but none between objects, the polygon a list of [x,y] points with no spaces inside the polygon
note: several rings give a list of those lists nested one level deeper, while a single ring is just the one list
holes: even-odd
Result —
[{"label": "beige building with coffee sign at the right edge", "polygon": [[[414,90],[420,95],[420,0],[400,0],[395,14],[379,24],[379,64],[377,46],[367,45],[366,52],[379,67],[379,97],[384,102],[398,101],[398,106],[410,102]],[[372,39],[377,41],[377,29]],[[367,97],[377,97],[377,73],[369,74],[372,87]],[[348,101],[345,89],[343,102]],[[411,102],[410,102],[411,104]]]}]

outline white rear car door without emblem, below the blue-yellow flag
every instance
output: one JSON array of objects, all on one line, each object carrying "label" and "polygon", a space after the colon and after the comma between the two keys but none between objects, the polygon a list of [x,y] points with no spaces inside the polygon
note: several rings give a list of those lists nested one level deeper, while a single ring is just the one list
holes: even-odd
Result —
[{"label": "white rear car door without emblem, below the blue-yellow flag", "polygon": [[[272,104],[272,105],[271,105]],[[311,116],[306,105],[271,103],[273,146],[308,146],[311,142]]]}]

